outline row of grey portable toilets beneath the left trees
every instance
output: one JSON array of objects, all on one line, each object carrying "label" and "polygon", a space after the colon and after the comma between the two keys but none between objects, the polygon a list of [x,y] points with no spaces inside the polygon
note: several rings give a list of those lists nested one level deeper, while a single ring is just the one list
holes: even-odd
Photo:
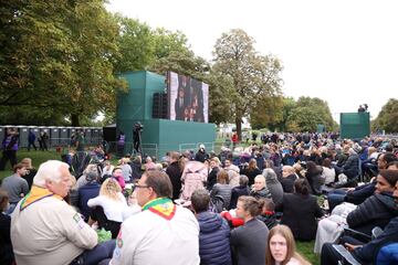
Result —
[{"label": "row of grey portable toilets beneath the left trees", "polygon": [[103,128],[102,127],[61,127],[61,126],[12,126],[12,125],[0,125],[0,140],[6,136],[8,128],[15,128],[19,132],[19,147],[28,147],[29,130],[35,135],[35,145],[39,147],[38,139],[41,132],[46,132],[49,136],[49,147],[64,147],[71,144],[71,137],[76,134],[77,130],[84,131],[85,145],[95,146],[103,141]]}]

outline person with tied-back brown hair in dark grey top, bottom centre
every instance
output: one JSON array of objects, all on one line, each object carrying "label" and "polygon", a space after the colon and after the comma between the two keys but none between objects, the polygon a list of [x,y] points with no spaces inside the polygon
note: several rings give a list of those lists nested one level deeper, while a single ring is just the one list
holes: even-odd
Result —
[{"label": "person with tied-back brown hair in dark grey top, bottom centre", "polygon": [[263,201],[253,197],[240,197],[237,205],[237,216],[244,221],[242,226],[231,231],[231,247],[233,264],[264,265],[269,230],[258,220],[263,209]]}]

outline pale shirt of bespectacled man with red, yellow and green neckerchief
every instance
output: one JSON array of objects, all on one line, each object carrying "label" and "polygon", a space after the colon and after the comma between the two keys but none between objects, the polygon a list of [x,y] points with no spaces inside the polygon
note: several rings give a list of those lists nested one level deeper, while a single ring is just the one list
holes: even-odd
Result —
[{"label": "pale shirt of bespectacled man with red, yellow and green neckerchief", "polygon": [[199,265],[199,224],[177,206],[168,221],[149,210],[123,222],[111,265]]}]

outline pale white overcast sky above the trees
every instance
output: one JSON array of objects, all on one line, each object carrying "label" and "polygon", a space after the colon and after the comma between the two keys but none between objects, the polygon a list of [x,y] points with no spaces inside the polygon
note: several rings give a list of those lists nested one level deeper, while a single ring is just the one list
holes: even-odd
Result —
[{"label": "pale white overcast sky above the trees", "polygon": [[286,96],[320,97],[337,121],[364,103],[376,118],[398,98],[398,1],[111,0],[107,9],[182,31],[207,60],[221,33],[240,28],[283,62]]}]

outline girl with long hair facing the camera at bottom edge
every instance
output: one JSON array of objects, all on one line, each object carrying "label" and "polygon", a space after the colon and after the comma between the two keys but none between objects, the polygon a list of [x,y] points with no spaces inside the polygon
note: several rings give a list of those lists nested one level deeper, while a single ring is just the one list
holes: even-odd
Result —
[{"label": "girl with long hair facing the camera at bottom edge", "polygon": [[266,265],[310,265],[295,251],[295,242],[292,231],[286,225],[274,226],[269,234],[266,252]]}]

